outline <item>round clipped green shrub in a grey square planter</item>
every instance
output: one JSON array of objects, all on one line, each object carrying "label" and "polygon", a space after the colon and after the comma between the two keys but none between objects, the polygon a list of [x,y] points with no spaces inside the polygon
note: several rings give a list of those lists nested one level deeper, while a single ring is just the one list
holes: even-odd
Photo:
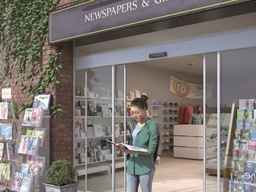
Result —
[{"label": "round clipped green shrub in a grey square planter", "polygon": [[77,192],[76,170],[67,160],[54,161],[46,173],[47,192]]}]

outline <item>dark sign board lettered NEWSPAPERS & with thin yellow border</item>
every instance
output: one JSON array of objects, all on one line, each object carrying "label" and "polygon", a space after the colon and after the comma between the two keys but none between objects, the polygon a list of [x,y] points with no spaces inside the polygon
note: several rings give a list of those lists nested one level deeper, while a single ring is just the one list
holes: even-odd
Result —
[{"label": "dark sign board lettered NEWSPAPERS & with thin yellow border", "polygon": [[91,0],[49,13],[54,44],[248,0]]}]

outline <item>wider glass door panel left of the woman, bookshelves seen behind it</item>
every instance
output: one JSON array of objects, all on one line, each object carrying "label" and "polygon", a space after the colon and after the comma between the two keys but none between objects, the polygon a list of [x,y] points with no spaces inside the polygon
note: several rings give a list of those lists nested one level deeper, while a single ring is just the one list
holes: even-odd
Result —
[{"label": "wider glass door panel left of the woman, bookshelves seen behind it", "polygon": [[101,192],[112,189],[112,67],[86,70],[86,189]]}]

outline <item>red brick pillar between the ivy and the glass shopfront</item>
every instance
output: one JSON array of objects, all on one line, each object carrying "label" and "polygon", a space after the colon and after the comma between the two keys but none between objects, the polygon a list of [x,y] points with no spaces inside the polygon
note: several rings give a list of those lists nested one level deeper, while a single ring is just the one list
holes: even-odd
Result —
[{"label": "red brick pillar between the ivy and the glass shopfront", "polygon": [[[73,156],[73,47],[72,42],[63,46],[63,62],[60,84],[52,93],[52,104],[61,104],[63,116],[51,118],[50,122],[50,161],[67,159],[72,161]],[[60,49],[57,45],[56,51]]]}]

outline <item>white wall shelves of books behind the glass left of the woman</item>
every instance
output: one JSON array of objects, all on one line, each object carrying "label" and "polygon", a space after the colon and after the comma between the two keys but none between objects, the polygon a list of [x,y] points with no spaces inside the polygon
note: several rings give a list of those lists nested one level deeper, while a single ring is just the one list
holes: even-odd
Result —
[{"label": "white wall shelves of books behind the glass left of the woman", "polygon": [[[108,98],[108,97],[81,97],[81,96],[76,96],[75,97],[76,102],[78,100],[84,100],[84,101],[93,101],[95,103],[100,103],[103,102],[105,104],[110,104],[112,98]],[[116,102],[119,103],[123,103],[124,104],[124,99],[115,99]],[[87,108],[86,108],[86,112],[87,112]],[[75,116],[75,119],[77,118],[82,118],[83,122],[84,122],[84,127],[83,129],[87,129],[87,132],[85,134],[85,136],[83,138],[75,138],[74,142],[75,142],[75,146],[77,146],[77,143],[81,143],[80,145],[84,145],[84,150],[87,154],[87,159],[85,160],[85,163],[76,163],[75,167],[78,173],[78,176],[84,175],[84,174],[92,174],[92,173],[107,173],[107,174],[111,174],[111,170],[112,170],[112,154],[111,154],[111,146],[108,145],[108,149],[100,149],[99,150],[99,154],[100,154],[100,160],[96,161],[92,161],[92,157],[88,157],[89,156],[89,152],[88,152],[88,146],[90,146],[90,143],[94,143],[97,145],[96,148],[100,148],[100,140],[111,140],[112,139],[112,134],[108,135],[108,132],[106,132],[107,130],[104,129],[106,127],[102,127],[102,135],[101,136],[90,136],[88,135],[88,127],[93,127],[94,124],[100,124],[100,125],[108,125],[111,126],[111,118],[112,116]],[[124,120],[124,116],[120,116],[120,115],[115,115],[116,118],[116,123],[118,122],[123,122]],[[127,119],[129,119],[129,116],[126,117]],[[88,125],[88,119],[91,119],[92,121],[92,126]],[[93,128],[92,128],[93,129]],[[111,128],[112,129],[112,128]],[[118,140],[119,142],[123,142],[124,141],[124,134],[116,134],[116,140]],[[106,154],[105,154],[106,153]],[[92,155],[92,154],[91,154]],[[107,157],[108,156],[108,157]],[[115,168],[122,168],[124,167],[124,156],[122,157],[116,157],[115,158]]]}]

